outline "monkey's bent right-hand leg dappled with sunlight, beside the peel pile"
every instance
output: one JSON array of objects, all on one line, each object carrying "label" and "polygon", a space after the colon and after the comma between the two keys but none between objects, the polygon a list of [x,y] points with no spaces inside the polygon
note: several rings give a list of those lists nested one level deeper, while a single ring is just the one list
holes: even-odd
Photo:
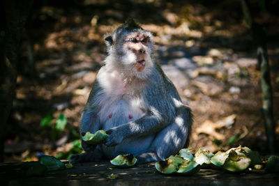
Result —
[{"label": "monkey's bent right-hand leg dappled with sunlight, beside the peel pile", "polygon": [[137,156],[139,164],[165,160],[169,155],[179,153],[179,150],[186,144],[192,124],[192,114],[185,106],[180,107],[176,113],[174,123],[156,135],[149,148],[150,151]]}]

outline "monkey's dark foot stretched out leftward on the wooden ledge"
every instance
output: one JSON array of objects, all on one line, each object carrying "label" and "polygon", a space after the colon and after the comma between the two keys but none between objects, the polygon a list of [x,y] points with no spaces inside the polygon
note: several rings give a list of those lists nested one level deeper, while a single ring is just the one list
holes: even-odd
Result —
[{"label": "monkey's dark foot stretched out leftward on the wooden ledge", "polygon": [[73,164],[83,162],[100,162],[103,160],[103,151],[101,146],[96,146],[95,150],[82,153],[80,155],[72,155],[69,162]]}]

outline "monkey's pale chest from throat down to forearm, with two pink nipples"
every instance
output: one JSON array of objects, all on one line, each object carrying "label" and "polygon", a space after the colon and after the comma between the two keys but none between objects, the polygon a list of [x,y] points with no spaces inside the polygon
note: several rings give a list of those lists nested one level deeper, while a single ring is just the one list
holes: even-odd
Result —
[{"label": "monkey's pale chest from throat down to forearm, with two pink nipples", "polygon": [[131,85],[131,79],[122,78],[116,70],[102,73],[98,80],[104,91],[99,112],[104,130],[134,121],[144,114],[138,88],[141,84]]}]

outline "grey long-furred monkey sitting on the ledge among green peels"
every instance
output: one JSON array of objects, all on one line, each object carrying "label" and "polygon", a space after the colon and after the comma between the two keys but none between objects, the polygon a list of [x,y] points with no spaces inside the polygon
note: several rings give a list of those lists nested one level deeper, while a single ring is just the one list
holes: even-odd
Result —
[{"label": "grey long-furred monkey sitting on the ledge among green peels", "polygon": [[188,141],[193,115],[154,59],[153,38],[132,18],[105,36],[107,56],[80,121],[80,133],[105,130],[105,144],[82,141],[70,162],[133,154],[138,164],[165,160]]}]

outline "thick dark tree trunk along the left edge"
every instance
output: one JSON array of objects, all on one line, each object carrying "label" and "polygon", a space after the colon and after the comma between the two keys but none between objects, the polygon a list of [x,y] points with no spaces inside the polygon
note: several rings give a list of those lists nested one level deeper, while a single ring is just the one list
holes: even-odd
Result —
[{"label": "thick dark tree trunk along the left edge", "polygon": [[4,1],[6,28],[0,36],[0,162],[3,162],[6,123],[15,98],[20,38],[32,4],[33,0]]}]

